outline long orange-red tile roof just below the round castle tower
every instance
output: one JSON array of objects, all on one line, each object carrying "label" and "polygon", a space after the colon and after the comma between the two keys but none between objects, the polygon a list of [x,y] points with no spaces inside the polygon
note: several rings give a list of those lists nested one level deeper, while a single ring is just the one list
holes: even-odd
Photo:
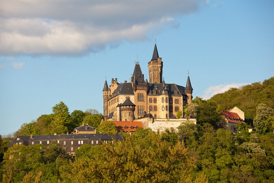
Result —
[{"label": "long orange-red tile roof just below the round castle tower", "polygon": [[112,121],[116,125],[117,131],[135,132],[137,128],[143,127],[141,121]]}]

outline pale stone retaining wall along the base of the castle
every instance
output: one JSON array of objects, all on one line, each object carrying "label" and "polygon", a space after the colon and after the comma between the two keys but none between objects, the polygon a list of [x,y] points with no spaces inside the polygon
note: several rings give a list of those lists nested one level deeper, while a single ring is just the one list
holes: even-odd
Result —
[{"label": "pale stone retaining wall along the base of the castle", "polygon": [[[196,124],[196,119],[188,119],[193,121]],[[186,122],[186,118],[179,118],[179,119],[153,119],[153,118],[143,118],[142,121],[144,128],[151,128],[152,131],[160,131],[163,132],[165,129],[170,129],[171,127],[177,131],[177,127],[181,124],[181,122]]]}]

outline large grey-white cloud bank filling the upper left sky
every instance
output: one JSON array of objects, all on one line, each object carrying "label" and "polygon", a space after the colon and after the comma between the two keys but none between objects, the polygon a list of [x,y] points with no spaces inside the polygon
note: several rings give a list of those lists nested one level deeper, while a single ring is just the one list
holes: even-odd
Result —
[{"label": "large grey-white cloud bank filling the upper left sky", "polygon": [[[146,39],[206,0],[0,1],[0,54],[81,54]],[[169,24],[170,25],[170,24]],[[176,27],[176,26],[174,26]]]}]

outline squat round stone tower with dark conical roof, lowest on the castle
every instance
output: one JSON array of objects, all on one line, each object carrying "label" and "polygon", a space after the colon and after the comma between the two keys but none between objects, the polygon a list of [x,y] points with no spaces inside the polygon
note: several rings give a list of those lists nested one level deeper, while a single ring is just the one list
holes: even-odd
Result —
[{"label": "squat round stone tower with dark conical roof, lowest on the castle", "polygon": [[122,113],[122,121],[134,120],[135,104],[130,101],[129,98],[120,105]]}]

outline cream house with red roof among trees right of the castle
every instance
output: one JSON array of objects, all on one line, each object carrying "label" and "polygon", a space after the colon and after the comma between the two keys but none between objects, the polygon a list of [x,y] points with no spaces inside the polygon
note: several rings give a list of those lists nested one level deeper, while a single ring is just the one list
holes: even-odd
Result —
[{"label": "cream house with red roof among trees right of the castle", "polygon": [[221,114],[223,119],[218,123],[218,128],[231,130],[237,132],[236,125],[238,123],[244,123],[244,112],[238,107],[234,107],[228,111],[223,111]]}]

